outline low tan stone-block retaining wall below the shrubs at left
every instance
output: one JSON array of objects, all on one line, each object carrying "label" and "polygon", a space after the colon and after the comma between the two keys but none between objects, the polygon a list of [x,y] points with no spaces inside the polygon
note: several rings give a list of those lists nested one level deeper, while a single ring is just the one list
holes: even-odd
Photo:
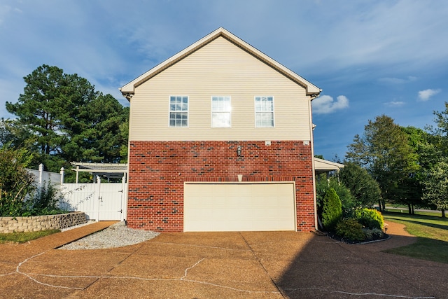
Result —
[{"label": "low tan stone-block retaining wall below the shrubs at left", "polygon": [[0,217],[0,233],[60,230],[86,222],[87,218],[84,212],[81,211],[59,215]]}]

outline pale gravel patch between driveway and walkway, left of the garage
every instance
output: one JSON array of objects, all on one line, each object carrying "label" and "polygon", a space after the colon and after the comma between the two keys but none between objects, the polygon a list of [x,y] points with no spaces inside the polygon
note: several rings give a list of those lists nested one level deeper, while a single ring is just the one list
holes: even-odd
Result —
[{"label": "pale gravel patch between driveway and walkway, left of the garage", "polygon": [[122,221],[109,226],[109,228],[95,232],[92,235],[83,237],[83,239],[78,239],[78,241],[59,247],[59,249],[74,250],[116,248],[145,242],[146,240],[153,239],[158,235],[159,232],[127,228],[125,222]]}]

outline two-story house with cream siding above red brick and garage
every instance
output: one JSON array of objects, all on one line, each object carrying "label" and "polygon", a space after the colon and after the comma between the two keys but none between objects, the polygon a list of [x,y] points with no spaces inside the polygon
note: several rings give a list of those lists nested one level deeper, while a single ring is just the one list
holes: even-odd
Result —
[{"label": "two-story house with cream siding above red brick and garage", "polygon": [[120,90],[130,228],[316,229],[315,85],[219,28]]}]

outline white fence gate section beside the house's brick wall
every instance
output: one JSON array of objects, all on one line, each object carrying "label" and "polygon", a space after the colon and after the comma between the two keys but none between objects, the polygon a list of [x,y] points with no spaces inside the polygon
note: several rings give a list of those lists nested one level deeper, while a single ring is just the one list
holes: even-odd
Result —
[{"label": "white fence gate section beside the house's brick wall", "polygon": [[96,221],[126,218],[127,183],[62,183],[59,201],[61,209],[83,211],[88,219]]}]

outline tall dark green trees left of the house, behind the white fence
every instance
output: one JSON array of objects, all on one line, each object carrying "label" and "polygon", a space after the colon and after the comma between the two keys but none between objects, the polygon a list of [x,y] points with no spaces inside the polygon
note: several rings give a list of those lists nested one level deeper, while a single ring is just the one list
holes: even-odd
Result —
[{"label": "tall dark green trees left of the house, behind the white fence", "polygon": [[1,148],[25,150],[27,167],[43,163],[50,172],[69,169],[70,162],[126,162],[129,107],[58,67],[43,64],[24,80],[18,101],[6,102],[16,118],[1,119]]}]

